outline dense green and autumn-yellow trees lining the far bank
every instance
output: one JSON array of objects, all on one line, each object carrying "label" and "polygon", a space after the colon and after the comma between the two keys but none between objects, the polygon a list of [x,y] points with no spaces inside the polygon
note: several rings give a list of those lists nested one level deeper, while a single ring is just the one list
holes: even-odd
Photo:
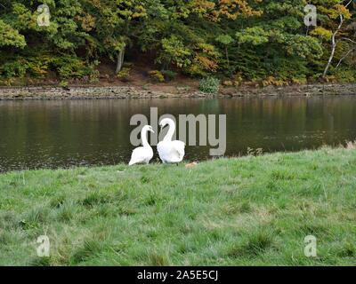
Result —
[{"label": "dense green and autumn-yellow trees lining the far bank", "polygon": [[[37,24],[40,4],[48,27]],[[317,27],[304,24],[306,4]],[[100,64],[125,77],[143,63],[158,81],[354,82],[355,10],[352,0],[0,0],[0,79],[94,82]]]}]

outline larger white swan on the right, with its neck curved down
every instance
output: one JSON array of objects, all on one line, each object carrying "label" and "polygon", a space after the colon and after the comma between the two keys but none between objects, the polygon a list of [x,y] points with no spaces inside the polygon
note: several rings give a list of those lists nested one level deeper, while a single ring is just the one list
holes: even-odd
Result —
[{"label": "larger white swan on the right, with its neck curved down", "polygon": [[166,125],[169,125],[169,130],[163,141],[159,142],[157,145],[157,150],[159,158],[164,163],[178,163],[182,162],[184,157],[185,144],[182,141],[172,141],[172,137],[175,131],[175,123],[170,118],[164,118],[159,125],[163,129]]}]

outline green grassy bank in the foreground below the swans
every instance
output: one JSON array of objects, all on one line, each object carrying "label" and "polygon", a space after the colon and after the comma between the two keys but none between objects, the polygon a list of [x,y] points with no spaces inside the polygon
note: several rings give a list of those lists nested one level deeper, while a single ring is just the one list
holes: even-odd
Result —
[{"label": "green grassy bank in the foreground below the swans", "polygon": [[355,222],[351,149],[0,175],[1,265],[354,265]]}]

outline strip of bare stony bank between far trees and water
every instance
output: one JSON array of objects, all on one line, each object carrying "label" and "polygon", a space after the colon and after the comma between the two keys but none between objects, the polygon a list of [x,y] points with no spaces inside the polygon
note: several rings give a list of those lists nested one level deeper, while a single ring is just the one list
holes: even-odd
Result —
[{"label": "strip of bare stony bank between far trees and water", "polygon": [[[240,86],[222,88],[216,95],[221,98],[266,97],[266,96],[325,96],[356,95],[356,83],[352,84],[310,84],[264,88]],[[14,99],[157,99],[157,98],[209,98],[212,95],[201,91],[175,88],[172,92],[144,90],[131,86],[69,86],[61,87],[3,87],[1,100]]]}]

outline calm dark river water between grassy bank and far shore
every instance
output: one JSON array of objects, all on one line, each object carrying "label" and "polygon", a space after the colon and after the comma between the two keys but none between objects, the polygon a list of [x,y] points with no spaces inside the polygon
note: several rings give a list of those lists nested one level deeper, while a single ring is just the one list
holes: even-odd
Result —
[{"label": "calm dark river water between grassy bank and far shore", "polygon": [[[226,156],[247,154],[247,147],[296,151],[356,139],[356,96],[2,101],[0,171],[128,162],[130,118],[150,119],[151,106],[176,117],[227,114]],[[186,160],[208,159],[209,148],[188,146]]]}]

